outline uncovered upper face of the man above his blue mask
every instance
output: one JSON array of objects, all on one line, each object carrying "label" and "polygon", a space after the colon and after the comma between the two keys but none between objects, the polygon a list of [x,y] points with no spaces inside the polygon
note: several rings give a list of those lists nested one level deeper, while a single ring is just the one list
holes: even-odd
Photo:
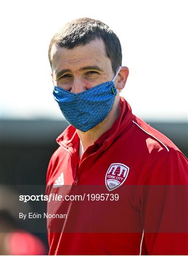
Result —
[{"label": "uncovered upper face of the man above his blue mask", "polygon": [[86,91],[114,77],[101,39],[73,49],[53,45],[51,58],[54,85],[73,93]]}]

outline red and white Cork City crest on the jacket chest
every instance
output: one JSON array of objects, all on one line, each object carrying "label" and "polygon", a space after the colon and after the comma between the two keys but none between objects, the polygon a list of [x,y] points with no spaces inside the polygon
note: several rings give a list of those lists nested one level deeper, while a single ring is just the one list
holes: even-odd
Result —
[{"label": "red and white Cork City crest on the jacket chest", "polygon": [[129,167],[120,163],[111,164],[105,177],[105,184],[109,191],[120,187],[128,176]]}]

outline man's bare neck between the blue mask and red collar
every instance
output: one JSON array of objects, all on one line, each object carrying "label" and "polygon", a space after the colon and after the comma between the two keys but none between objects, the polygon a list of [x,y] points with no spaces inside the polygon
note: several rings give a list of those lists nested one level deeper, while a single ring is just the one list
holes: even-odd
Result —
[{"label": "man's bare neck between the blue mask and red collar", "polygon": [[120,116],[120,98],[118,97],[114,101],[114,105],[112,110],[108,114],[108,116],[94,128],[82,132],[77,130],[78,137],[80,138],[80,146],[79,146],[79,156],[80,158],[84,154],[85,150],[94,144],[94,142],[103,135],[104,132],[109,130],[115,120]]}]

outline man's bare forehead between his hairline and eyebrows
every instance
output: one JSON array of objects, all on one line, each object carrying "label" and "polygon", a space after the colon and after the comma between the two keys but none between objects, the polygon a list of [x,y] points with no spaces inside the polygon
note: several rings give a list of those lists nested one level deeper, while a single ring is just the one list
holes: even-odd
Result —
[{"label": "man's bare forehead between his hairline and eyebrows", "polygon": [[106,55],[105,45],[101,39],[95,39],[85,46],[76,46],[73,49],[53,45],[51,59],[54,72],[62,68],[74,70],[85,65],[98,65],[103,68],[111,66],[111,60]]}]

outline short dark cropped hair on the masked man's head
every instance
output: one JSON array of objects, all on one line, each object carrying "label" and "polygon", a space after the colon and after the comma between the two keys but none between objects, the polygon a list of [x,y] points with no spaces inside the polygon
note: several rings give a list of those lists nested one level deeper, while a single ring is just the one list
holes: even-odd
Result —
[{"label": "short dark cropped hair on the masked man's head", "polygon": [[56,44],[60,47],[72,49],[75,46],[85,46],[94,39],[102,39],[106,49],[106,55],[111,60],[114,73],[121,66],[122,52],[119,38],[106,24],[92,18],[78,18],[65,24],[51,39],[48,57],[50,64],[51,47]]}]

